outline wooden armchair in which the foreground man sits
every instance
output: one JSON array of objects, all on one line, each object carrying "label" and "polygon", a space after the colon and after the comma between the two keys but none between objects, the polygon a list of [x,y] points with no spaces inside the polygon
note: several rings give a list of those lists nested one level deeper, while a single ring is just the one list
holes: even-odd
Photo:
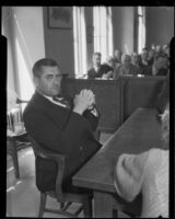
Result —
[{"label": "wooden armchair in which the foreground man sits", "polygon": [[[45,150],[30,136],[32,147],[36,157],[43,159],[52,160],[57,163],[58,172],[56,177],[56,191],[40,192],[40,206],[38,217],[43,217],[44,212],[55,212],[61,214],[67,217],[78,217],[78,215],[83,210],[85,218],[92,217],[92,195],[91,194],[77,194],[71,192],[63,192],[63,178],[66,176],[66,165],[67,165],[67,155],[54,153],[50,150]],[[50,209],[46,208],[47,196],[56,198],[60,204],[60,209]],[[74,212],[70,214],[67,211],[68,207],[72,203],[82,204],[82,206]]]}]

